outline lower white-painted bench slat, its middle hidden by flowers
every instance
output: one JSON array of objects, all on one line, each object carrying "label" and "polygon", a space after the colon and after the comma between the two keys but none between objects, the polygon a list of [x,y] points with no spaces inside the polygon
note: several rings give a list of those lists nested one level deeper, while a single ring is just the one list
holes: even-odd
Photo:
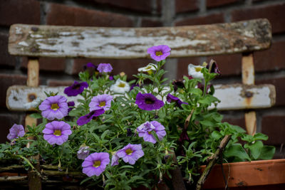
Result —
[{"label": "lower white-painted bench slat, its middle hidden by flowers", "polygon": [[[275,103],[274,85],[215,85],[215,96],[221,100],[218,104],[219,110],[242,110],[252,108],[271,107]],[[11,86],[7,90],[6,105],[9,110],[27,110],[24,106],[28,103],[28,97],[39,97],[46,99],[46,92],[58,92],[58,95],[64,95],[63,90],[66,87],[46,87],[28,88],[26,86]],[[68,101],[76,101],[78,97],[67,97]]]}]

